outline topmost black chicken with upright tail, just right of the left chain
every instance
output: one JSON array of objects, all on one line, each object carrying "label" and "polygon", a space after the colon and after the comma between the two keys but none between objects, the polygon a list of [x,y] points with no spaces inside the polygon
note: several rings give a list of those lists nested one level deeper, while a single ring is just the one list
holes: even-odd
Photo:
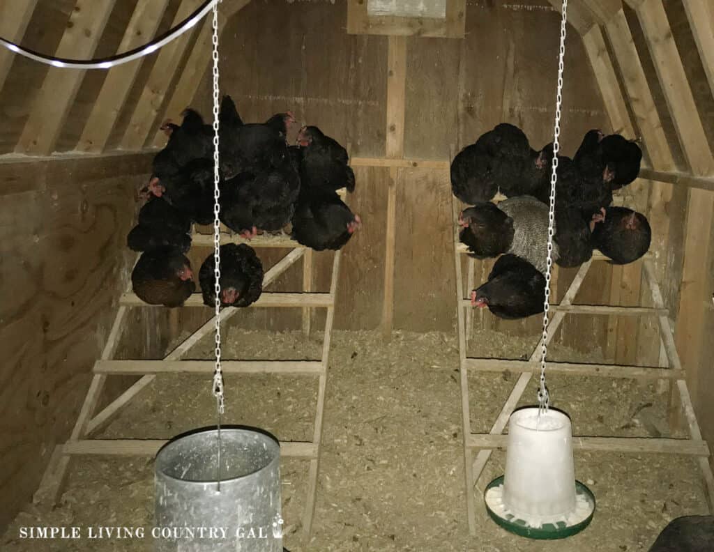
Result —
[{"label": "topmost black chicken with upright tail, just right of the left chain", "polygon": [[[279,117],[283,117],[283,125]],[[221,172],[232,179],[242,172],[258,174],[288,163],[286,126],[294,121],[291,114],[278,114],[269,124],[244,124],[231,96],[223,96],[220,112]]]}]

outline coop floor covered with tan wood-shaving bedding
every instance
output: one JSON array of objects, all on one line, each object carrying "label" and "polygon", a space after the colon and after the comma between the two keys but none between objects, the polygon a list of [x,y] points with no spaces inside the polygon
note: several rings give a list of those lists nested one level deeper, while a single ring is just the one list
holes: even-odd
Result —
[{"label": "coop floor covered with tan wood-shaving bedding", "polygon": [[[321,334],[246,332],[228,328],[226,358],[317,358]],[[520,358],[535,336],[476,331],[479,356]],[[555,346],[562,361],[602,361],[599,353]],[[210,358],[211,341],[191,358]],[[575,453],[575,473],[598,501],[590,527],[567,541],[512,536],[478,513],[468,535],[463,486],[461,401],[455,336],[396,333],[383,344],[373,332],[335,332],[328,375],[323,451],[313,538],[300,540],[306,461],[281,466],[286,547],[298,551],[642,551],[670,519],[707,512],[695,462],[682,456]],[[260,426],[283,440],[311,438],[316,381],[286,376],[226,377],[226,418]],[[473,431],[488,431],[516,376],[472,376]],[[102,434],[170,438],[213,423],[207,378],[154,380]],[[666,395],[655,384],[607,378],[549,378],[556,406],[585,435],[666,436]],[[522,403],[532,403],[531,386]],[[496,451],[479,488],[503,473]],[[4,551],[149,551],[133,541],[21,541],[21,526],[153,526],[151,458],[83,457],[71,463],[66,492],[53,511],[29,507],[0,541]],[[482,501],[477,496],[481,508]],[[148,532],[148,531],[147,531]]]}]

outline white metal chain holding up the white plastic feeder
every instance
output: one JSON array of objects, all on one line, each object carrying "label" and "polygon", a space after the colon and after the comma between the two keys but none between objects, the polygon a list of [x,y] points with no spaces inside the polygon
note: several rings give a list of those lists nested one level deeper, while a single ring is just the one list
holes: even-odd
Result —
[{"label": "white metal chain holding up the white plastic feeder", "polygon": [[548,355],[548,307],[550,302],[550,269],[553,266],[553,234],[555,227],[555,184],[558,182],[558,151],[560,151],[560,106],[563,104],[563,59],[565,58],[565,29],[568,0],[563,0],[560,19],[560,52],[558,54],[558,93],[555,96],[555,125],[553,129],[553,171],[550,174],[550,210],[548,212],[548,258],[545,261],[545,299],[543,300],[543,341],[540,355],[540,388],[538,389],[538,415],[548,412],[550,396],[545,386],[545,357]]}]

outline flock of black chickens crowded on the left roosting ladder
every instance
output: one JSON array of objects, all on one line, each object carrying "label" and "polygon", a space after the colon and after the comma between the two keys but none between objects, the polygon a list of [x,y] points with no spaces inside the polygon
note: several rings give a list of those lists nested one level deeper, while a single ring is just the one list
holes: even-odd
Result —
[{"label": "flock of black chickens crowded on the left roosting ladder", "polygon": [[[355,189],[347,151],[316,126],[303,126],[297,144],[288,146],[293,114],[276,114],[265,123],[246,124],[230,96],[219,114],[220,219],[250,241],[263,232],[291,236],[316,251],[340,249],[361,226],[337,194]],[[144,189],[148,201],[127,245],[141,256],[134,266],[134,293],[153,305],[176,307],[196,290],[191,263],[192,224],[214,218],[213,127],[192,109],[181,125],[161,127],[169,136],[156,154],[153,176]],[[203,303],[215,296],[213,253],[198,271]],[[263,266],[247,244],[221,246],[221,305],[248,306],[263,289]]]}]

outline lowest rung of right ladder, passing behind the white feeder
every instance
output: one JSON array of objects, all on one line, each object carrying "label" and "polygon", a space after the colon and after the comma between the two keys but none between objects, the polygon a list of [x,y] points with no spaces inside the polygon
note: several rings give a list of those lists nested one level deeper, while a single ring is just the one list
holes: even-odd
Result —
[{"label": "lowest rung of right ladder, passing behind the white feeder", "polygon": [[[469,448],[506,448],[508,435],[471,433]],[[622,453],[680,454],[683,456],[709,456],[706,441],[693,439],[655,439],[647,437],[575,437],[573,449]]]}]

